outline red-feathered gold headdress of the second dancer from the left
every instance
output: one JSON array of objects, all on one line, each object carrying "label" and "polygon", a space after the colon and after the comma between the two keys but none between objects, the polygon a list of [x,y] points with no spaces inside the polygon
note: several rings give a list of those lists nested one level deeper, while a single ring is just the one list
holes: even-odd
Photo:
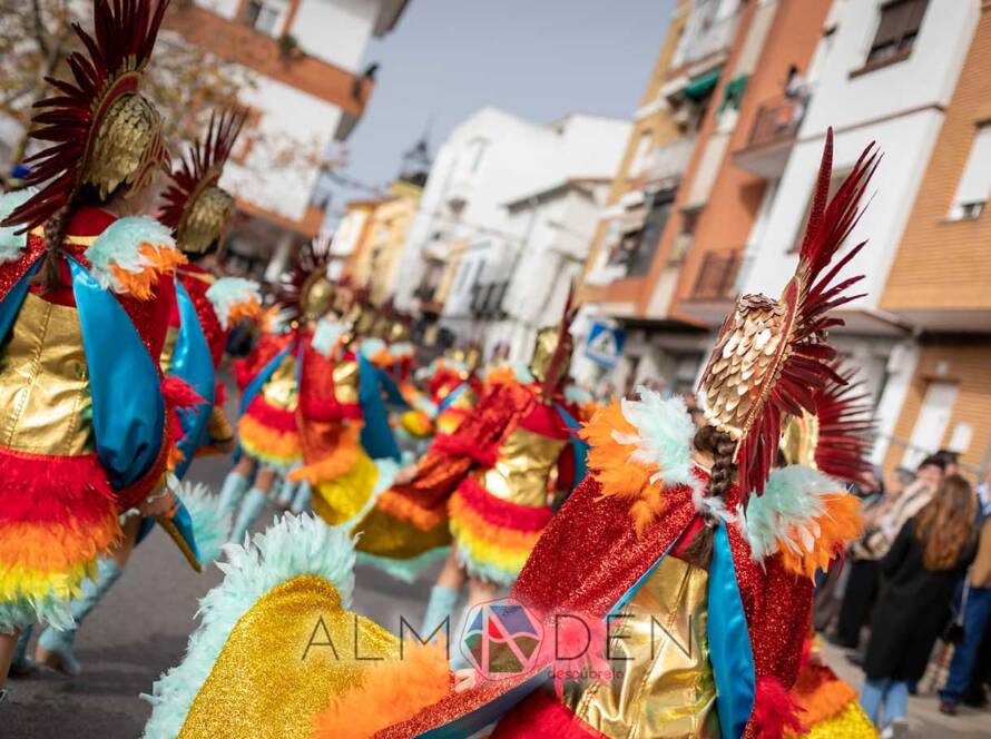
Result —
[{"label": "red-feathered gold headdress of the second dancer from the left", "polygon": [[184,252],[208,249],[234,213],[234,198],[217,187],[224,165],[247,118],[246,110],[210,114],[206,139],[196,139],[163,194],[159,220],[173,229]]}]

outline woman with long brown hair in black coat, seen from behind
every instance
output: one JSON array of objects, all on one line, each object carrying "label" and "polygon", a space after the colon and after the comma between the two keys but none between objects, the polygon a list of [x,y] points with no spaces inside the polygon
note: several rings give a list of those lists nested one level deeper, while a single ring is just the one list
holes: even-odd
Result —
[{"label": "woman with long brown hair in black coat, seen from behind", "polygon": [[882,739],[907,726],[909,683],[925,672],[973,555],[974,512],[970,483],[960,475],[946,477],[880,562],[881,594],[871,621],[861,706],[883,729]]}]

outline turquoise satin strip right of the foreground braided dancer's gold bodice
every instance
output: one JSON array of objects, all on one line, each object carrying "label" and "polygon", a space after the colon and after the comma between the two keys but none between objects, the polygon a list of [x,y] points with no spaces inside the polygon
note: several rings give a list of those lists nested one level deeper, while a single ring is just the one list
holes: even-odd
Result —
[{"label": "turquoise satin strip right of the foreground braided dancer's gold bodice", "polygon": [[754,653],[726,525],[720,523],[714,533],[708,584],[709,662],[716,679],[719,729],[723,737],[736,739],[743,736],[754,707]]}]

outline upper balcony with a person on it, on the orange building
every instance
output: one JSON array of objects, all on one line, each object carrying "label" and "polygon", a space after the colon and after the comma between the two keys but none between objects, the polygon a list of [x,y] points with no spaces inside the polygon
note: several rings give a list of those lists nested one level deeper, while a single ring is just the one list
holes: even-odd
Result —
[{"label": "upper balcony with a person on it, on the orange building", "polygon": [[765,101],[754,117],[746,146],[733,152],[733,162],[764,179],[778,179],[807,109],[807,97],[781,96]]}]

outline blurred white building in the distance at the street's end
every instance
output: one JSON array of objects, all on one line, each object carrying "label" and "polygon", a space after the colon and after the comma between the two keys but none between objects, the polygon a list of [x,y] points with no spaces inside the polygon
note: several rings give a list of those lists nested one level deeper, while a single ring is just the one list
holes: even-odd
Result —
[{"label": "blurred white building in the distance at the street's end", "polygon": [[[629,130],[612,118],[576,114],[540,125],[494,108],[459,125],[438,151],[410,230],[400,307],[435,309],[460,341],[482,342],[509,321],[512,329],[500,325],[500,338],[485,341],[521,351],[533,324],[556,306],[560,316],[558,296],[533,296],[556,280],[567,290],[551,255],[569,265],[587,255],[601,186]],[[512,314],[504,307],[523,302],[529,307]]]}]

